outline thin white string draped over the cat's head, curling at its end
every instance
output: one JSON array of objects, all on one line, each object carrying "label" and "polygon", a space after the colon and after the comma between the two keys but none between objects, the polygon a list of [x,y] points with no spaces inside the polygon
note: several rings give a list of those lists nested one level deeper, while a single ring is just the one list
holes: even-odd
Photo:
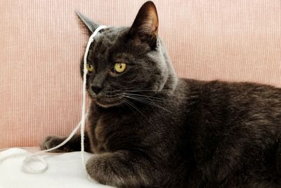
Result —
[{"label": "thin white string draped over the cat's head, curling at its end", "polygon": [[[33,154],[29,153],[29,155],[26,156],[26,158],[22,161],[22,170],[25,173],[31,173],[31,174],[44,173],[44,171],[46,171],[47,168],[48,168],[48,163],[46,163],[44,158],[39,156],[39,154],[40,153],[44,153],[44,152],[48,152],[48,151],[53,151],[55,149],[58,149],[60,146],[63,146],[64,144],[69,142],[70,139],[72,139],[74,134],[77,132],[77,130],[79,130],[79,127],[81,127],[81,161],[82,161],[82,164],[84,166],[84,169],[86,170],[86,164],[85,164],[85,158],[84,158],[84,130],[85,130],[85,120],[86,120],[86,116],[87,116],[87,114],[86,114],[86,75],[88,73],[88,69],[86,67],[87,56],[88,56],[88,53],[89,53],[89,49],[90,49],[91,43],[93,42],[93,37],[96,37],[98,32],[100,30],[103,30],[105,27],[106,27],[105,25],[100,25],[98,28],[96,28],[96,30],[93,32],[93,34],[89,38],[88,44],[86,46],[86,50],[85,50],[85,54],[84,54],[84,74],[83,74],[83,87],[82,87],[82,110],[81,110],[81,121],[80,121],[80,123],[74,128],[74,130],[72,130],[72,132],[67,137],[67,139],[65,139],[65,141],[63,141],[62,143],[58,144],[58,146],[55,146],[55,147],[53,147],[51,149],[46,149],[44,151],[39,151],[39,152],[33,153]],[[39,169],[39,170],[34,170],[32,168],[29,168],[27,166],[27,163],[29,163],[32,160],[33,161],[37,160],[37,161],[41,162],[41,164],[44,165],[44,167]]]}]

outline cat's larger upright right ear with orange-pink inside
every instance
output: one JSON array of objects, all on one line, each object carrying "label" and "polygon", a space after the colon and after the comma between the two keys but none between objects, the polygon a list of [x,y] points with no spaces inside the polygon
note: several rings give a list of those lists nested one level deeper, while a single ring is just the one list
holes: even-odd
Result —
[{"label": "cat's larger upright right ear with orange-pink inside", "polygon": [[158,23],[156,6],[152,1],[147,1],[138,11],[129,30],[129,35],[133,39],[138,39],[141,42],[147,42],[150,46],[155,46],[158,35]]}]

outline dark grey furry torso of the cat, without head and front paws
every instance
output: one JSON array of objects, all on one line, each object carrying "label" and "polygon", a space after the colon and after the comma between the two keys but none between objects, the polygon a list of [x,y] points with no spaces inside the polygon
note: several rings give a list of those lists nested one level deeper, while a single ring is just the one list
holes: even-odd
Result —
[{"label": "dark grey furry torso of the cat, without head and front paws", "polygon": [[[174,94],[161,99],[166,101],[156,104],[171,112],[136,104],[148,117],[134,109],[105,109],[92,103],[92,151],[136,151],[153,161],[147,175],[152,182],[159,180],[157,185],[166,180],[168,187],[281,186],[281,89],[179,80]],[[154,168],[163,177],[154,177]],[[183,185],[178,184],[181,179]]]}]

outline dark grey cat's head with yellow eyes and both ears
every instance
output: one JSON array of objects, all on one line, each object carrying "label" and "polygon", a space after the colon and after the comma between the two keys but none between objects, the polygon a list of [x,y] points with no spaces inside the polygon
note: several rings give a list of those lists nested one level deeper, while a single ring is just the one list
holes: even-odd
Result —
[{"label": "dark grey cat's head with yellow eyes and both ears", "polygon": [[[77,15],[89,34],[100,25]],[[81,74],[83,67],[82,61]],[[86,88],[99,106],[117,106],[140,94],[173,92],[177,77],[158,37],[155,4],[143,4],[131,27],[100,30],[90,46],[87,68]]]}]

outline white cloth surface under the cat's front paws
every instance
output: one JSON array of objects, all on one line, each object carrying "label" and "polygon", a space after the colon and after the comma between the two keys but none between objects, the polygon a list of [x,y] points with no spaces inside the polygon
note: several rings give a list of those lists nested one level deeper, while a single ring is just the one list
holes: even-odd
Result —
[{"label": "white cloth surface under the cat's front paws", "polygon": [[[27,153],[18,148],[0,152],[0,188],[108,188],[87,178],[80,152],[45,155],[48,169],[35,175],[22,172],[22,161]],[[91,155],[85,153],[85,159]],[[29,166],[40,168],[40,165],[30,163]]]}]

